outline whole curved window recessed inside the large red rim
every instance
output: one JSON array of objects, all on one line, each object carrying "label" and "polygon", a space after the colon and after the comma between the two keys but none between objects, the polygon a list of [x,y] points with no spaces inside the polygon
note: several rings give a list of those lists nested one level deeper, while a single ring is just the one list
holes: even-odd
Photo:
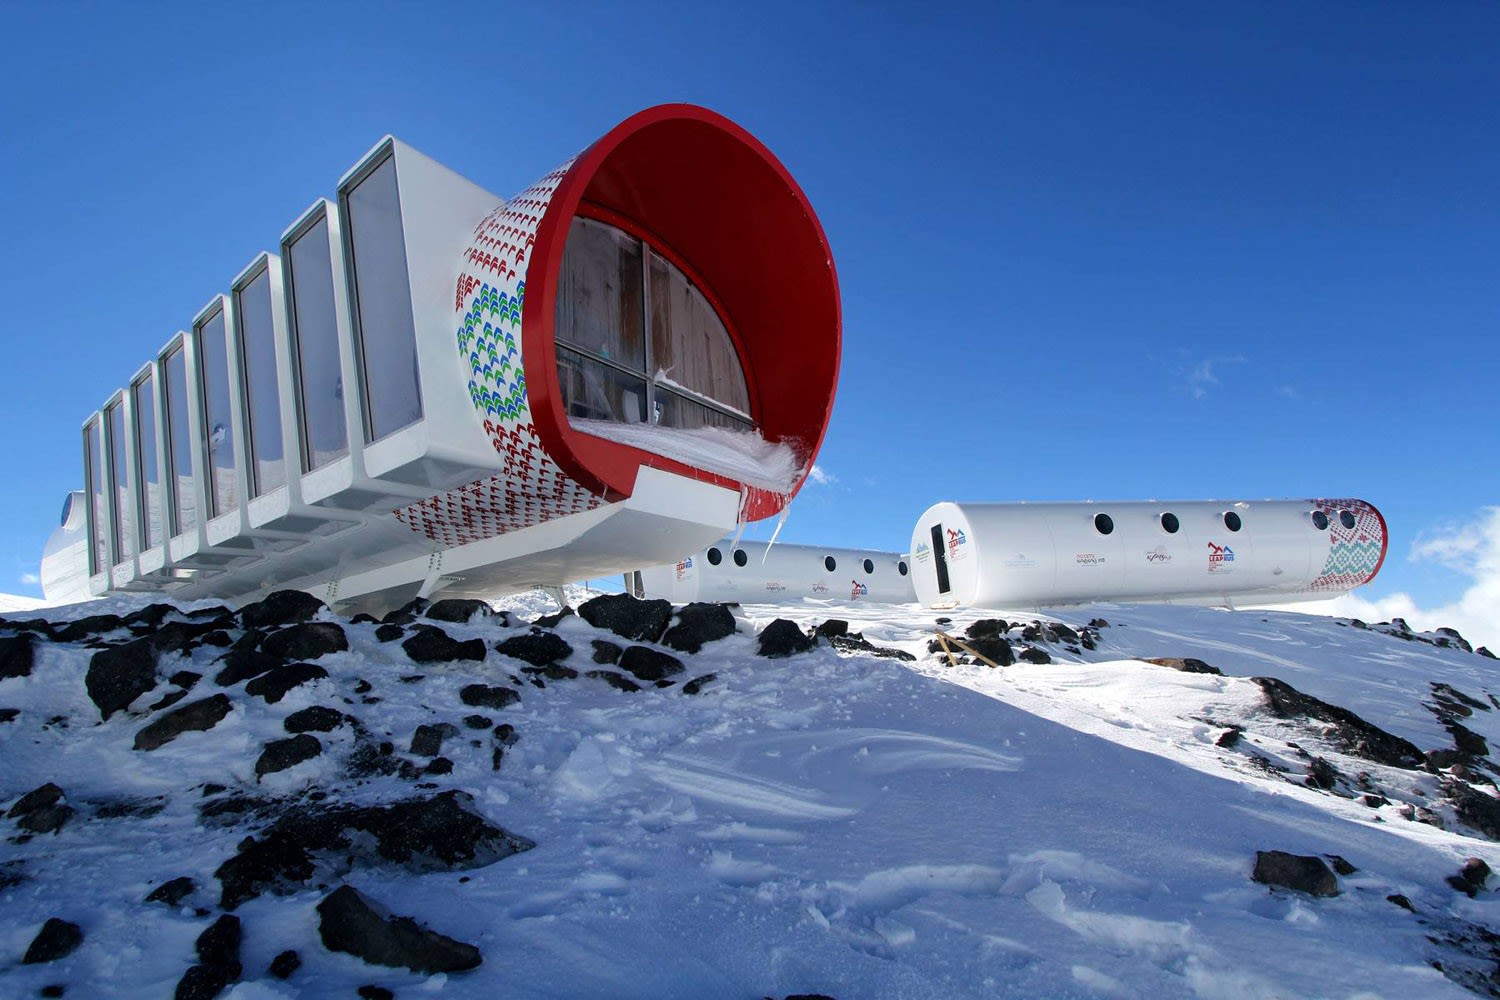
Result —
[{"label": "whole curved window recessed inside the large red rim", "polygon": [[669,259],[573,219],[556,298],[556,360],[572,420],[750,430],[750,391],[708,297]]}]

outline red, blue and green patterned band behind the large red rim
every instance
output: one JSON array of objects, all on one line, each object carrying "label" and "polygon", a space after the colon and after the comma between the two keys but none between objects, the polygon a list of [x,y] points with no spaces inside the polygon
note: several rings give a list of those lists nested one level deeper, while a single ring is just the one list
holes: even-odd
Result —
[{"label": "red, blue and green patterned band behind the large red rim", "polygon": [[[568,160],[495,208],[462,255],[453,294],[458,351],[468,367],[470,402],[501,457],[501,472],[396,511],[400,523],[438,544],[482,541],[603,504],[543,450],[531,421],[520,345],[528,258],[537,226],[572,165]],[[538,361],[550,364],[552,358]]]}]

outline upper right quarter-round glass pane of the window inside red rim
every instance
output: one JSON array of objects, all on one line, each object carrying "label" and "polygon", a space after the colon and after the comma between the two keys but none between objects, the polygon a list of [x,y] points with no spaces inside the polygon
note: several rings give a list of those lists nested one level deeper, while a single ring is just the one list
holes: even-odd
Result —
[{"label": "upper right quarter-round glass pane of the window inside red rim", "polygon": [[744,369],[708,298],[670,261],[651,253],[651,373],[750,415]]}]

